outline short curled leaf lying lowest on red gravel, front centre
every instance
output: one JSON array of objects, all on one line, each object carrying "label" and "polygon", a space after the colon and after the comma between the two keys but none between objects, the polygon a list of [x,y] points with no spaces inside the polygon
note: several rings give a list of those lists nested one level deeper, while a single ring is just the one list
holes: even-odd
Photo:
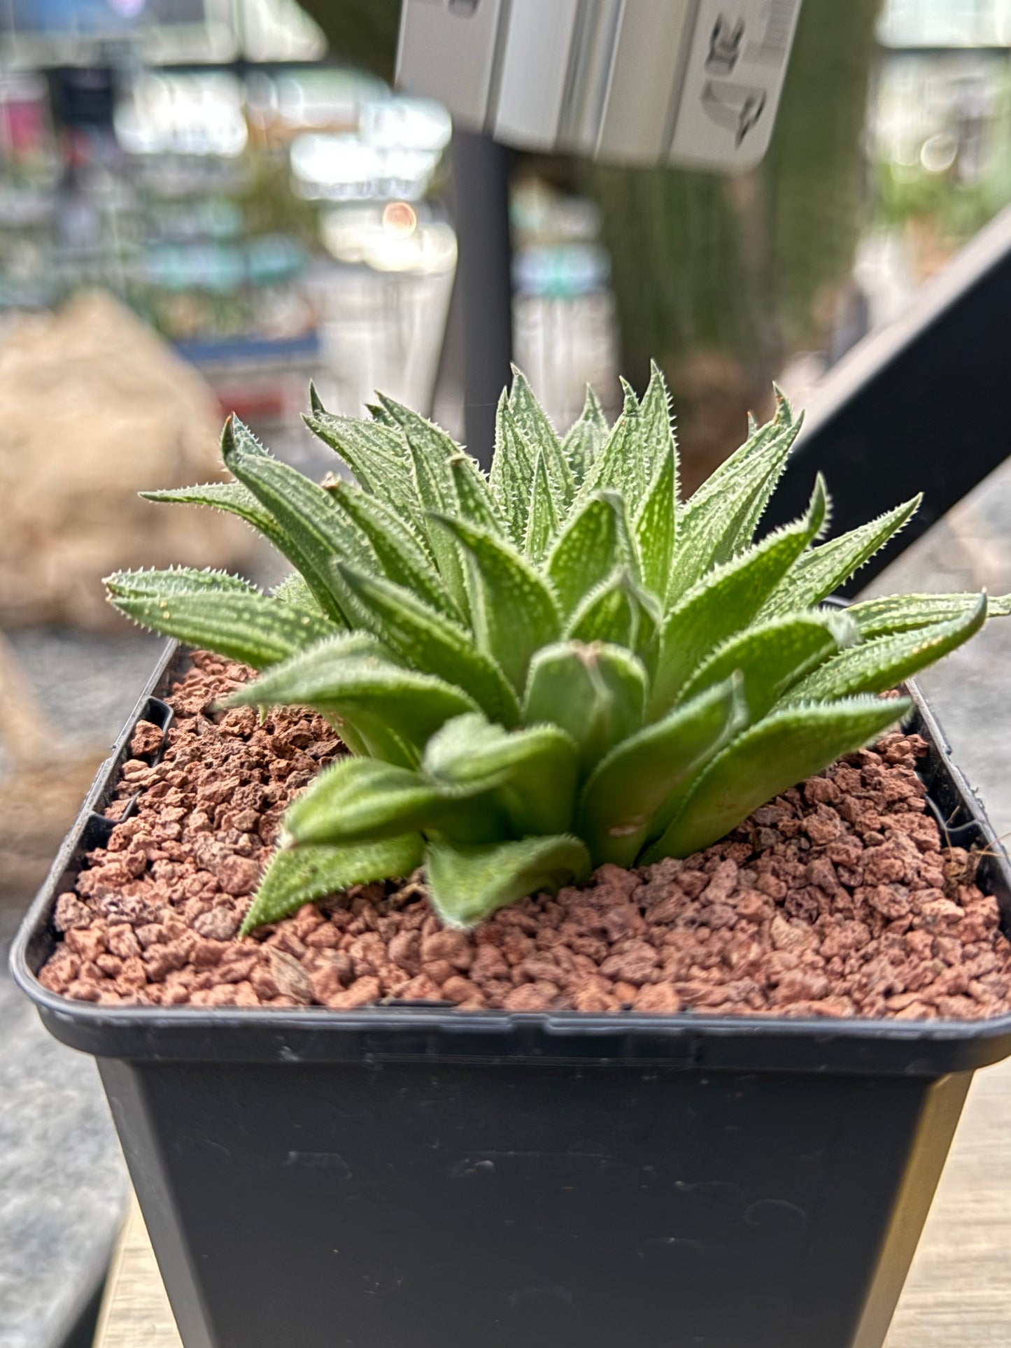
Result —
[{"label": "short curled leaf lying lowest on red gravel, front centre", "polygon": [[472,927],[527,894],[582,883],[589,878],[589,853],[568,833],[470,847],[430,844],[425,871],[442,921]]}]

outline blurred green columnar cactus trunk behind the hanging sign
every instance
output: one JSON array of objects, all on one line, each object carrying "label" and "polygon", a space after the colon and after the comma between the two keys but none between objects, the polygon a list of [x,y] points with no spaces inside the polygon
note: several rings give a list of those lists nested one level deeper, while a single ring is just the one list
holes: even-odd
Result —
[{"label": "blurred green columnar cactus trunk behind the hanging sign", "polygon": [[585,163],[603,212],[621,367],[654,356],[689,480],[762,410],[790,355],[824,344],[867,204],[863,125],[879,0],[805,0],[768,155],[723,178]]}]

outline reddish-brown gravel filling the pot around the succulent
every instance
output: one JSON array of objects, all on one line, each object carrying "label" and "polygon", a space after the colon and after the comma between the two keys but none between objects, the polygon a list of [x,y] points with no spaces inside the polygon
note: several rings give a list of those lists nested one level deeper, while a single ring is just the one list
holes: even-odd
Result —
[{"label": "reddish-brown gravel filling the pot around the succulent", "polygon": [[62,894],[39,979],[105,1006],[360,1007],[980,1019],[1011,1010],[1011,942],[975,857],[946,847],[886,736],[683,861],[604,865],[472,933],[442,929],[418,878],[357,886],[237,938],[288,801],[342,752],[311,712],[210,705],[248,678],[197,652],[167,701],[163,760],[140,723],[117,817]]}]

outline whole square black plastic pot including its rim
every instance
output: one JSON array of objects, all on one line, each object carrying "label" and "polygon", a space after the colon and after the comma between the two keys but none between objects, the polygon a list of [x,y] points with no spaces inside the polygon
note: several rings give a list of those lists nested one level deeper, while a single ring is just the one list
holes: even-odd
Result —
[{"label": "whole square black plastic pot including its rim", "polygon": [[[183,659],[168,648],[136,716]],[[915,728],[941,817],[991,847],[980,879],[1008,925],[1007,861],[921,698]],[[125,743],[13,971],[98,1058],[186,1348],[879,1348],[1011,1016],[70,1002],[35,972]]]}]

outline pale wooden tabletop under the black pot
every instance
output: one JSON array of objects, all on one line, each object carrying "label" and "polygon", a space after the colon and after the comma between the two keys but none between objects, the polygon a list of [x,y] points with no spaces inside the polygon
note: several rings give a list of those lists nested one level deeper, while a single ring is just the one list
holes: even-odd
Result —
[{"label": "pale wooden tabletop under the black pot", "polygon": [[[136,1202],[116,1251],[94,1343],[96,1348],[182,1348]],[[973,1081],[886,1341],[886,1348],[1008,1345],[1011,1060]]]}]

